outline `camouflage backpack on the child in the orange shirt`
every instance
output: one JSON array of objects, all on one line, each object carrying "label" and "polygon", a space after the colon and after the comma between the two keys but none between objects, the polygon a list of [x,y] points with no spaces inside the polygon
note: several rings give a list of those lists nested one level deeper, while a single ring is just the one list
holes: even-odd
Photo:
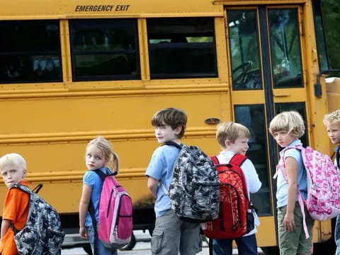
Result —
[{"label": "camouflage backpack on the child in the orange shirt", "polygon": [[[41,187],[42,184],[35,192],[38,193]],[[16,183],[11,188],[19,188],[30,195],[26,225],[21,230],[11,225],[18,253],[21,255],[61,254],[65,234],[55,208],[27,186]]]}]

